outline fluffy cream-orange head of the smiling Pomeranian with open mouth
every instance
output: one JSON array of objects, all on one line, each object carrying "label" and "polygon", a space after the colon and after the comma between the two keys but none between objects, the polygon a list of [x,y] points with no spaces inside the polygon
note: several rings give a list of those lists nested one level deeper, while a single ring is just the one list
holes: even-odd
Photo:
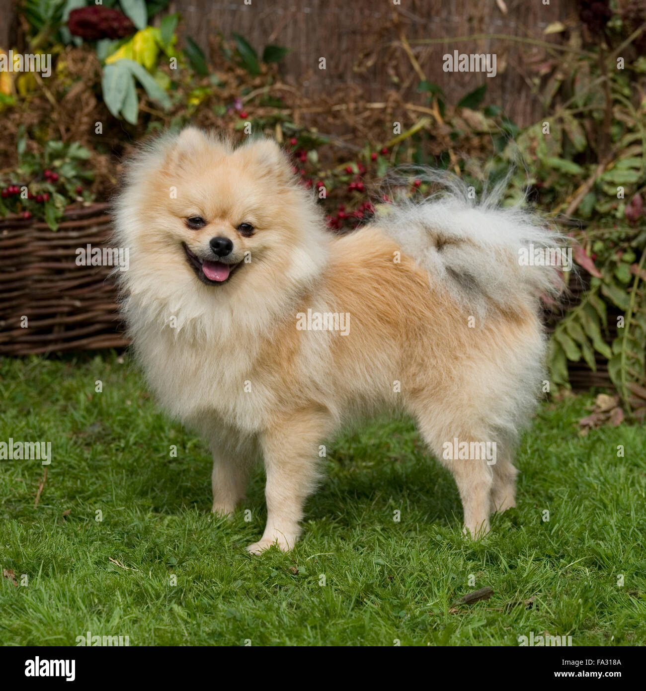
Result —
[{"label": "fluffy cream-orange head of the smiling Pomeranian with open mouth", "polygon": [[325,255],[312,194],[273,140],[234,148],[192,127],[165,135],[133,158],[116,208],[131,292],[278,299]]}]

